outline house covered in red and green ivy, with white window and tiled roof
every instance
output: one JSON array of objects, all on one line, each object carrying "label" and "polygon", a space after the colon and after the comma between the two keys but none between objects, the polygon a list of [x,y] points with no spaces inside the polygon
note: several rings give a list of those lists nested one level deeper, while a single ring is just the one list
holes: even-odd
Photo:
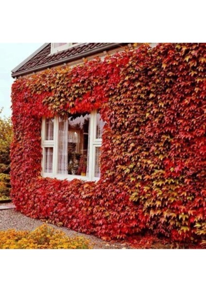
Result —
[{"label": "house covered in red and green ivy, with white window and tiled roof", "polygon": [[203,239],[205,54],[205,44],[46,43],[19,64],[17,210],[104,239]]}]

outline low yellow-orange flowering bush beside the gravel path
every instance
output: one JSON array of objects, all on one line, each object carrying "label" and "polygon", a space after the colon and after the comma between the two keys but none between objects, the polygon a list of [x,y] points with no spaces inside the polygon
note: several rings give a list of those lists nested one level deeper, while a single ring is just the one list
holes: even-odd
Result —
[{"label": "low yellow-orange flowering bush beside the gravel path", "polygon": [[0,249],[91,249],[84,237],[67,237],[47,224],[34,231],[0,231]]}]

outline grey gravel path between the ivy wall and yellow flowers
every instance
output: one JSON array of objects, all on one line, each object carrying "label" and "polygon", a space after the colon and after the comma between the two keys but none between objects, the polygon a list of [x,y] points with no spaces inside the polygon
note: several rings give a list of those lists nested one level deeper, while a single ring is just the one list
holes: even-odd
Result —
[{"label": "grey gravel path between the ivy wall and yellow flowers", "polygon": [[[26,217],[17,212],[15,209],[0,210],[0,230],[16,229],[16,230],[34,230],[36,227],[44,224],[41,220]],[[48,224],[55,229],[65,232],[69,237],[83,236],[91,241],[94,249],[130,249],[127,243],[114,241],[104,241],[93,235],[86,235],[70,230],[66,227],[57,227],[53,224]]]}]

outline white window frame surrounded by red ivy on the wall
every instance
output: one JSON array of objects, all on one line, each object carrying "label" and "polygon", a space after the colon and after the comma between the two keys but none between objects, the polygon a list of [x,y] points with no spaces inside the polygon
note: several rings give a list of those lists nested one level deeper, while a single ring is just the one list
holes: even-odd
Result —
[{"label": "white window frame surrounded by red ivy on the wall", "polygon": [[[42,177],[56,178],[59,180],[68,180],[81,179],[84,181],[98,181],[100,178],[95,177],[95,148],[102,146],[102,139],[96,139],[96,130],[97,130],[97,110],[94,110],[90,113],[90,137],[89,137],[89,161],[88,161],[88,176],[81,175],[71,175],[71,174],[59,174],[58,173],[58,123],[59,118],[54,117],[54,133],[53,140],[45,140],[46,137],[46,118],[42,119],[42,128],[41,128],[41,147],[42,147]],[[45,165],[45,148],[53,148],[53,163],[52,163],[52,173],[44,172]]]}]

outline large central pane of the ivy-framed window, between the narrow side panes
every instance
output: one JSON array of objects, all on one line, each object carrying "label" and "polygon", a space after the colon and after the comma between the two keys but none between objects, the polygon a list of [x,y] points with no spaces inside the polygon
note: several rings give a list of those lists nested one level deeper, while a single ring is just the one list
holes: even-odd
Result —
[{"label": "large central pane of the ivy-framed window, between the narrow side panes", "polygon": [[90,114],[59,118],[58,173],[86,176]]}]

